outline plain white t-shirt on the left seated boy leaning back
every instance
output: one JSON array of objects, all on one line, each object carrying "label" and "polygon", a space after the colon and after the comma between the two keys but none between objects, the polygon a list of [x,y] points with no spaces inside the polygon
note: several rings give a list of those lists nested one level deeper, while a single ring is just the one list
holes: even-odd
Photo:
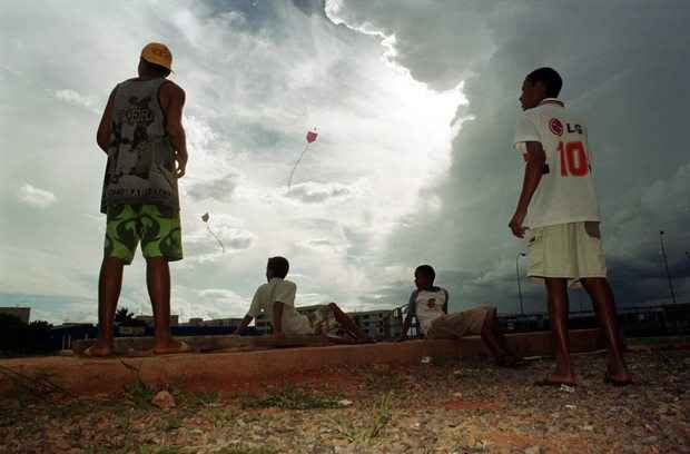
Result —
[{"label": "plain white t-shirt on the left seated boy leaning back", "polygon": [[[313,334],[314,329],[309,319],[295,310],[295,294],[297,286],[295,283],[274,277],[269,283],[256,289],[252,306],[247,315],[258,317],[265,313],[268,322],[273,324],[273,304],[283,303],[283,333],[285,334]],[[274,326],[275,329],[275,326]]]}]

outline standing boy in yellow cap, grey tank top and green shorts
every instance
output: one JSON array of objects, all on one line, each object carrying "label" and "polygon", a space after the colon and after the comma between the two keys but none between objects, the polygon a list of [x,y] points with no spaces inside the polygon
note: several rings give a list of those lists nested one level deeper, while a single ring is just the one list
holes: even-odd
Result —
[{"label": "standing boy in yellow cap, grey tank top and green shorts", "polygon": [[170,336],[170,269],[183,258],[177,179],[185,175],[185,91],[167,79],[172,55],[161,43],[141,50],[138,77],[116,86],[98,127],[98,146],[108,155],[101,213],[107,215],[98,287],[99,335],[87,355],[112,354],[112,324],[122,268],[137,244],[156,324],[157,354],[189,349]]}]

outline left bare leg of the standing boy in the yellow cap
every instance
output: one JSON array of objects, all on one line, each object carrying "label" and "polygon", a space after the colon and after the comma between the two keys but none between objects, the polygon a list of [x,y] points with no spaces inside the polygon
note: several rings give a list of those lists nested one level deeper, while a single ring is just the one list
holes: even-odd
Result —
[{"label": "left bare leg of the standing boy in the yellow cap", "polygon": [[89,356],[109,356],[114,351],[112,324],[115,310],[122,287],[122,268],[125,261],[115,257],[105,257],[98,279],[98,339],[87,354]]}]

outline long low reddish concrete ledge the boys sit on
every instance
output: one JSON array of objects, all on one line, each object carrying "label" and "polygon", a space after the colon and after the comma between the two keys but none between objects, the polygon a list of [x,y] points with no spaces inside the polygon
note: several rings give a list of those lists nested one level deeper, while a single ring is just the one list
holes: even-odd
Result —
[{"label": "long low reddish concrete ledge the boys sit on", "polygon": [[[602,347],[599,329],[571,332],[573,352]],[[522,356],[551,354],[549,333],[506,336]],[[24,376],[48,376],[51,383],[77,394],[121,392],[138,378],[152,385],[187,391],[228,389],[243,383],[289,378],[324,368],[353,368],[372,364],[416,365],[424,356],[462,358],[485,355],[479,337],[455,340],[410,340],[366,345],[270,349],[241,353],[179,354],[134,358],[91,359],[39,357],[0,361],[0,393],[11,393],[14,382],[4,371]]]}]

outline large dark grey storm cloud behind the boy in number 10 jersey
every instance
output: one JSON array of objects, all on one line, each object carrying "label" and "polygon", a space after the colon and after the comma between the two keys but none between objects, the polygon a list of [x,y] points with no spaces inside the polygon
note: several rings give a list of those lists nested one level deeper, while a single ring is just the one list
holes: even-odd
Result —
[{"label": "large dark grey storm cloud behind the boy in number 10 jersey", "polygon": [[[465,79],[470,103],[459,117],[473,118],[454,140],[447,179],[431,188],[443,208],[411,215],[390,241],[390,261],[430,258],[461,299],[514,309],[514,257],[523,245],[510,236],[507,221],[522,172],[511,149],[519,89],[530,70],[552,66],[564,77],[562,97],[589,122],[620,304],[668,295],[659,229],[672,243],[678,285],[688,287],[690,159],[681,131],[690,91],[680,75],[690,70],[681,57],[690,43],[689,3],[372,3],[343,2],[337,16],[353,28],[368,23],[394,33],[396,61],[432,87]],[[463,18],[462,26],[448,17]],[[438,18],[433,33],[428,18]],[[543,309],[540,287],[528,286],[526,297]]]}]

